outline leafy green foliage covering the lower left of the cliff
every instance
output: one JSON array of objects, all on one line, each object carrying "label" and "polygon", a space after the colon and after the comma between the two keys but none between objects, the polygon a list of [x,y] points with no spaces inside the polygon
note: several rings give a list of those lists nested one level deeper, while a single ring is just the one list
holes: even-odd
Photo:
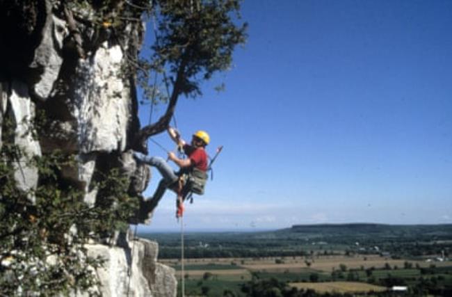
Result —
[{"label": "leafy green foliage covering the lower left of the cliff", "polygon": [[[83,244],[120,230],[133,214],[136,199],[128,181],[116,170],[98,183],[101,203],[89,207],[83,193],[61,177],[63,167],[75,166],[73,156],[53,152],[25,156],[8,121],[2,123],[0,148],[0,295],[40,292],[52,296],[96,283],[93,268],[102,259],[88,257]],[[38,127],[39,128],[39,127]],[[17,188],[16,168],[38,168],[38,186]],[[32,202],[31,197],[35,199]]]}]

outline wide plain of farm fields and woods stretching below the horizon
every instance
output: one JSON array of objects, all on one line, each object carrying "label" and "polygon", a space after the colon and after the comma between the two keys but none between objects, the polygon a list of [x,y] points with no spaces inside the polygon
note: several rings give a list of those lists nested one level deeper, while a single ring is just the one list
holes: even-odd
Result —
[{"label": "wide plain of farm fields and woods stretching below the horizon", "polygon": [[175,268],[186,296],[387,296],[394,286],[406,287],[407,296],[452,296],[452,225],[191,233],[183,273],[180,234],[146,238],[159,242],[159,262]]}]

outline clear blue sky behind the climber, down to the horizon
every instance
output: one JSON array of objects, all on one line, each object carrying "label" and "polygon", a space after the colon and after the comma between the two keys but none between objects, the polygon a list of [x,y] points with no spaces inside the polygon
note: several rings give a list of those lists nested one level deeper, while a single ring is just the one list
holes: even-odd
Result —
[{"label": "clear blue sky behind the climber, down to the horizon", "polygon": [[[248,0],[241,13],[232,70],[177,106],[184,138],[224,145],[186,230],[452,223],[452,1]],[[174,214],[168,192],[140,230],[179,230]]]}]

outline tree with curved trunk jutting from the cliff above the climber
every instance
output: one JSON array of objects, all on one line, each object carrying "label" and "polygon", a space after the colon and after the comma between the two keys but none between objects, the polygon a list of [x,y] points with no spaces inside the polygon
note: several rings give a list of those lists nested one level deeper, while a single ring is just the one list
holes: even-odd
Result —
[{"label": "tree with curved trunk jutting from the cliff above the climber", "polygon": [[[168,91],[166,113],[155,123],[147,125],[136,136],[136,150],[146,152],[146,140],[164,131],[170,122],[180,95],[202,95],[200,84],[216,72],[225,71],[232,62],[236,45],[245,42],[247,24],[237,26],[231,16],[239,15],[239,0],[155,1],[156,35],[150,59],[141,60],[138,83],[151,99],[156,93],[155,79],[150,73],[161,73],[163,82],[172,84]],[[163,93],[163,92],[160,92]]]}]

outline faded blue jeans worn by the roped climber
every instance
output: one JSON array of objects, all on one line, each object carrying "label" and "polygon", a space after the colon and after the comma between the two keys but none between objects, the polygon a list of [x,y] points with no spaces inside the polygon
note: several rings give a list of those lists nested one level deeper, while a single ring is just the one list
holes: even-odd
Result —
[{"label": "faded blue jeans worn by the roped climber", "polygon": [[163,197],[163,194],[165,194],[168,186],[177,182],[179,177],[176,175],[171,166],[165,161],[165,159],[161,158],[160,156],[147,157],[136,155],[136,158],[143,163],[147,163],[148,165],[157,168],[157,170],[159,170],[161,176],[163,177],[160,180],[159,186],[156,188],[154,195],[152,195],[152,199],[150,200],[149,204],[147,204],[147,211],[152,211],[152,209],[157,206],[157,204]]}]

